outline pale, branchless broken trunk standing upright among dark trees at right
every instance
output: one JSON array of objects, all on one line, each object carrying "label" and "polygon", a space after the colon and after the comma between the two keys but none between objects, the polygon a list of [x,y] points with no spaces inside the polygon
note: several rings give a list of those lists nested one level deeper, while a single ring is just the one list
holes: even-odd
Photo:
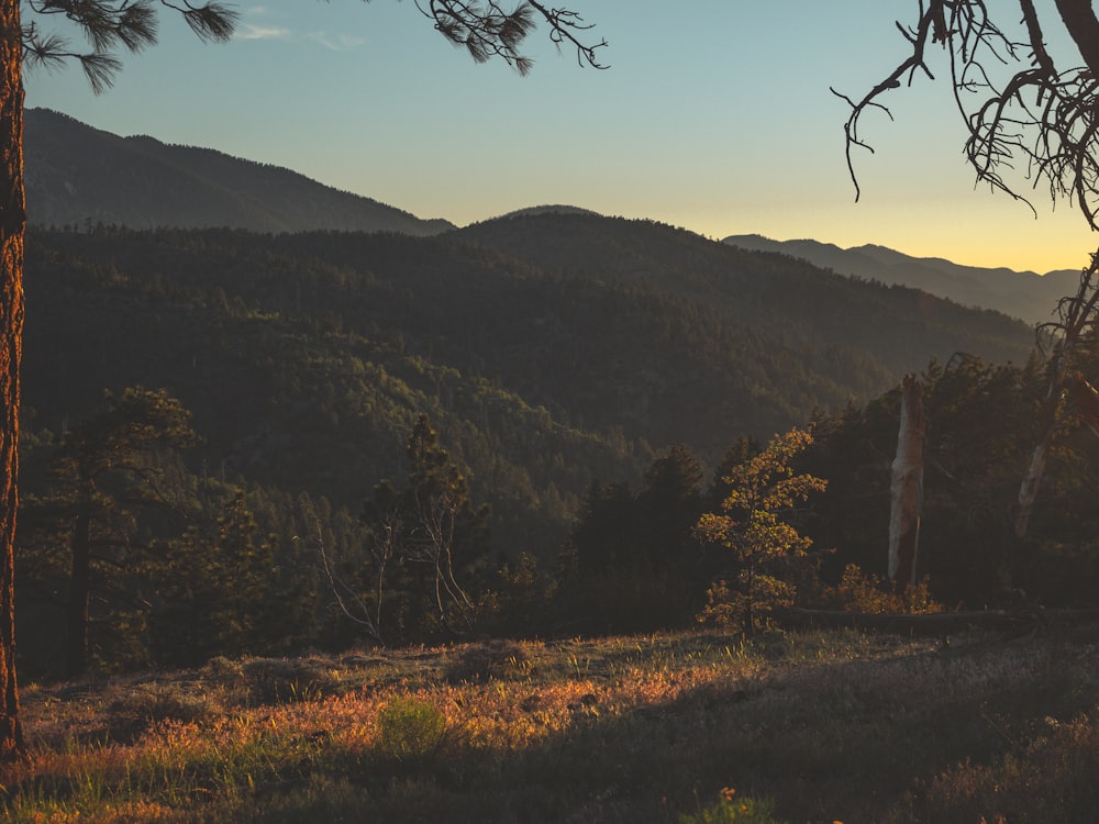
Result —
[{"label": "pale, branchless broken trunk standing upright among dark trees at right", "polygon": [[915,555],[920,546],[923,510],[923,442],[928,432],[923,414],[923,386],[906,375],[901,387],[900,432],[889,485],[889,578],[898,592],[915,583]]}]

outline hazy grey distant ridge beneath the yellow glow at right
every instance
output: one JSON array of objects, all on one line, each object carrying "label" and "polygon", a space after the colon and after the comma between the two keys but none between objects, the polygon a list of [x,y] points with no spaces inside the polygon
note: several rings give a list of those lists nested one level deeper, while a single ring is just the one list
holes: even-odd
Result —
[{"label": "hazy grey distant ridge beneath the yellow glow at right", "polygon": [[841,248],[818,241],[773,241],[762,235],[731,235],[724,243],[753,252],[775,252],[808,260],[837,275],[922,289],[967,307],[995,309],[1029,323],[1051,320],[1057,300],[1076,289],[1079,271],[1037,275],[1008,268],[961,266],[937,257],[911,257],[868,244]]}]

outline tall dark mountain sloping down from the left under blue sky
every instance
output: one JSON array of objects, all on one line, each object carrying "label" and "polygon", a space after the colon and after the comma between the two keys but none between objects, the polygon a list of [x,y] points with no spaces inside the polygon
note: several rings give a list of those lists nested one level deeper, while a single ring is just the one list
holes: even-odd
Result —
[{"label": "tall dark mountain sloping down from the left under blue sky", "polygon": [[42,226],[226,226],[255,232],[454,229],[277,166],[209,148],[120,137],[48,109],[24,113],[27,215]]}]

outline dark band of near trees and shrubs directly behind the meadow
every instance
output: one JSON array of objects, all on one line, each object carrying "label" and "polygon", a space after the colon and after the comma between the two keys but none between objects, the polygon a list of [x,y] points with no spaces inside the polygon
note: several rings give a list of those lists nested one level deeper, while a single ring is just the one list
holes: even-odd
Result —
[{"label": "dark band of near trees and shrubs directly behind the meadow", "polygon": [[[742,437],[709,474],[677,445],[636,487],[591,481],[540,558],[495,543],[491,509],[425,414],[401,475],[364,485],[353,510],[195,467],[187,410],[129,389],[24,442],[22,666],[47,680],[363,643],[752,632],[791,605],[1095,608],[1096,441],[1072,416],[1033,537],[1011,532],[1040,376],[977,360],[925,371],[921,582],[903,597],[881,582],[896,391],[820,415],[812,435]],[[758,503],[780,478],[790,500]]]}]

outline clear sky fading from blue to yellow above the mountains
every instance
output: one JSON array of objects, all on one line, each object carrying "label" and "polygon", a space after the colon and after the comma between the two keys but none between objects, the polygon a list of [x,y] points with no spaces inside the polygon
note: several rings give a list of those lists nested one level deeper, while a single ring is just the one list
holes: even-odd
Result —
[{"label": "clear sky fading from blue to yellow above the mountains", "polygon": [[895,21],[915,0],[559,2],[607,40],[609,68],[579,66],[544,30],[526,43],[526,77],[476,64],[413,0],[266,0],[234,5],[226,44],[203,44],[162,9],[159,43],[126,55],[109,91],[93,94],[75,66],[38,68],[26,105],[458,225],[562,203],[713,238],[879,244],[1037,272],[1080,269],[1099,245],[1072,203],[1054,207],[1023,177],[1036,215],[975,186],[937,64],[935,81],[892,92],[891,121],[864,121],[875,151],[856,155],[855,201],[847,104],[830,87],[861,97],[904,57]]}]

